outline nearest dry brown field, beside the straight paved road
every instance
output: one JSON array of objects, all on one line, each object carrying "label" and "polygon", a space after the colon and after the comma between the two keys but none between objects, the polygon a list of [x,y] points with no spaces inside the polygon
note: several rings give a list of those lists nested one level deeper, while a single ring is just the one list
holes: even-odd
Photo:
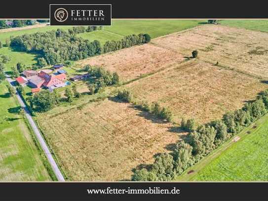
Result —
[{"label": "nearest dry brown field, beside the straight paved road", "polygon": [[171,123],[115,101],[93,102],[59,115],[38,115],[71,180],[130,180],[133,168],[153,162],[153,155],[166,152],[166,146],[179,139]]}]

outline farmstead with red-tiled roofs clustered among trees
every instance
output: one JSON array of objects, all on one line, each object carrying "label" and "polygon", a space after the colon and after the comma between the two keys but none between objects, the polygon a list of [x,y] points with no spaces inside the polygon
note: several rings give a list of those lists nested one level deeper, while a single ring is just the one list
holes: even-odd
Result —
[{"label": "farmstead with red-tiled roofs clustered among trees", "polygon": [[[41,88],[53,91],[55,88],[71,85],[67,80],[67,72],[63,70],[63,64],[54,65],[52,69],[43,69],[40,71],[26,70],[21,73],[16,81],[21,86],[28,85],[32,89],[32,93],[37,93]],[[71,81],[84,80],[88,78],[88,74],[76,75],[70,78]]]}]

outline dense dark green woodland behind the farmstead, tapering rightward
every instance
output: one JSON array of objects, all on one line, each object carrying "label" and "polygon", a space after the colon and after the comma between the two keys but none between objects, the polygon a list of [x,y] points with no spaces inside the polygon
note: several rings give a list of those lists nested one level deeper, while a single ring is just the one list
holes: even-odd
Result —
[{"label": "dense dark green woodland behind the farmstead, tapering rightward", "polygon": [[68,31],[57,29],[56,31],[44,33],[25,34],[11,38],[10,46],[20,51],[34,52],[41,55],[43,59],[39,59],[38,64],[44,66],[46,64],[61,63],[66,60],[77,61],[121,48],[147,43],[151,40],[148,34],[131,35],[124,37],[120,41],[108,41],[101,47],[98,40],[89,41],[76,36],[76,34],[84,31],[84,27],[73,27]]}]

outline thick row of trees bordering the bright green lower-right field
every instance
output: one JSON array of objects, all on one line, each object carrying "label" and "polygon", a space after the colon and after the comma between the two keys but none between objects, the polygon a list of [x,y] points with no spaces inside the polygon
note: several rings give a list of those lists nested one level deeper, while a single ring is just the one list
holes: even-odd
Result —
[{"label": "thick row of trees bordering the bright green lower-right field", "polygon": [[173,153],[158,155],[151,168],[135,170],[132,180],[172,180],[267,112],[268,90],[262,92],[254,102],[247,103],[243,108],[234,112],[228,112],[221,120],[199,126],[193,119],[182,120],[182,128],[191,132],[189,138],[177,143]]}]

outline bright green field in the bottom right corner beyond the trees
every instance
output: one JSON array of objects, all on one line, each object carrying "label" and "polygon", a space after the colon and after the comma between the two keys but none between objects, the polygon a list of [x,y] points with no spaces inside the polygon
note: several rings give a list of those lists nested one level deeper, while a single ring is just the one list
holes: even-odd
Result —
[{"label": "bright green field in the bottom right corner beyond the trees", "polygon": [[[268,115],[189,168],[177,181],[268,181]],[[250,134],[247,132],[250,131]],[[190,170],[193,173],[188,174]]]}]

